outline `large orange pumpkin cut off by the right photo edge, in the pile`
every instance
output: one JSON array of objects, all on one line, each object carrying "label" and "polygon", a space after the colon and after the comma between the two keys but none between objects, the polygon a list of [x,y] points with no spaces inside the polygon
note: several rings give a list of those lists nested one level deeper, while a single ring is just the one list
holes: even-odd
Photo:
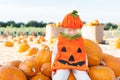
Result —
[{"label": "large orange pumpkin cut off by the right photo edge, in the pile", "polygon": [[103,54],[103,61],[106,66],[110,67],[117,77],[120,76],[120,58],[116,58],[109,54]]}]

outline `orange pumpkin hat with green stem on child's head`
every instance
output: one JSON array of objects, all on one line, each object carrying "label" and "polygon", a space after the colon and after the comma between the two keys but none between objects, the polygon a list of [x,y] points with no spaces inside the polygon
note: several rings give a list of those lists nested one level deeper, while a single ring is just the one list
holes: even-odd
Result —
[{"label": "orange pumpkin hat with green stem on child's head", "polygon": [[82,28],[82,25],[82,21],[76,10],[73,10],[72,13],[67,14],[62,22],[62,27],[64,28],[78,29]]}]

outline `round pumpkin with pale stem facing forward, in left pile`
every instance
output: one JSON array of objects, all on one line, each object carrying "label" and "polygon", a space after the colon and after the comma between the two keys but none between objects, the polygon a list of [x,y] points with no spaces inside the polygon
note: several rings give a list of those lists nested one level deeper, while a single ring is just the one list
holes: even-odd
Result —
[{"label": "round pumpkin with pale stem facing forward, in left pile", "polygon": [[22,70],[27,76],[34,76],[38,71],[39,67],[35,60],[27,59],[20,63],[19,69]]}]

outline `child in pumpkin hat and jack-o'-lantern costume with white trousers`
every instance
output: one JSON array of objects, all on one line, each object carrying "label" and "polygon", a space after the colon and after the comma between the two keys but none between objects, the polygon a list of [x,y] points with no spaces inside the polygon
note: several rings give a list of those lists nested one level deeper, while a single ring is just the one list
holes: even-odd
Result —
[{"label": "child in pumpkin hat and jack-o'-lantern costume with white trousers", "polygon": [[78,32],[82,21],[76,10],[65,16],[62,27],[65,32],[59,34],[52,53],[52,80],[67,80],[70,71],[76,80],[90,80],[83,38]]}]

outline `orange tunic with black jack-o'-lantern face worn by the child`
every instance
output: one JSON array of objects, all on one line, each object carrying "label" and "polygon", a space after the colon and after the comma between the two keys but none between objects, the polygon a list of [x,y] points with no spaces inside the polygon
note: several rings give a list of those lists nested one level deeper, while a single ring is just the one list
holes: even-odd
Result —
[{"label": "orange tunic with black jack-o'-lantern face worn by the child", "polygon": [[79,36],[78,38],[68,40],[66,37],[59,35],[58,53],[52,69],[88,69],[82,37]]}]

